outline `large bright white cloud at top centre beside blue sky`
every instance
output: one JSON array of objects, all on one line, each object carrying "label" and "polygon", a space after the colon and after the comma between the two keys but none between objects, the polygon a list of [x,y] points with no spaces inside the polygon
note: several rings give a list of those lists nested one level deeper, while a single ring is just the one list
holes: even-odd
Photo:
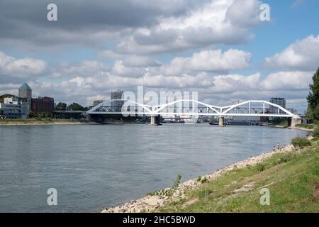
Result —
[{"label": "large bright white cloud at top centre beside blue sky", "polygon": [[122,53],[172,52],[216,44],[244,43],[248,28],[260,22],[260,2],[214,0],[186,15],[159,18],[150,28],[138,28],[118,43]]}]

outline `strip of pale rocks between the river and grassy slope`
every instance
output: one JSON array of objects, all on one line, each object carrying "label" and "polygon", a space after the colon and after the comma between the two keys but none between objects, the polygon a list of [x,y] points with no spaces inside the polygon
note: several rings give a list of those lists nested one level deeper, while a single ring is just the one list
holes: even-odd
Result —
[{"label": "strip of pale rocks between the river and grassy slope", "polygon": [[[258,155],[256,157],[250,157],[247,160],[243,160],[241,162],[237,162],[233,165],[229,165],[220,170],[216,170],[210,175],[206,175],[208,180],[216,179],[223,175],[223,173],[234,170],[235,168],[240,169],[247,166],[257,165],[259,162],[267,159],[268,157],[272,157],[272,155],[276,153],[286,153],[293,150],[293,145],[287,145],[285,148],[281,150],[275,150],[271,153],[263,153],[262,155]],[[111,208],[103,209],[102,213],[139,213],[139,212],[151,212],[155,211],[159,207],[163,206],[167,201],[176,201],[184,198],[185,192],[189,189],[194,189],[199,187],[201,182],[198,182],[197,179],[190,179],[187,182],[179,184],[176,191],[172,196],[158,196],[158,195],[148,195],[141,199],[129,201],[121,206],[115,206]]]}]

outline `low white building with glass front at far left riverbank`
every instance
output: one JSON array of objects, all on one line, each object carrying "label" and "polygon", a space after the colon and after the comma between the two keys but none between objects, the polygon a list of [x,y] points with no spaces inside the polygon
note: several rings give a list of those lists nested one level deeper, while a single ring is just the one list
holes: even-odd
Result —
[{"label": "low white building with glass front at far left riverbank", "polygon": [[28,116],[28,104],[26,102],[19,101],[19,99],[14,96],[4,98],[4,103],[0,103],[0,109],[0,118],[25,119]]}]

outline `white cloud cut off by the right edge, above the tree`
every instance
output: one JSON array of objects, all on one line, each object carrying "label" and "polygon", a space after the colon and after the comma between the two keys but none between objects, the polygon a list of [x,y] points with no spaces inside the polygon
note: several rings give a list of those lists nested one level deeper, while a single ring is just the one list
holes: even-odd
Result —
[{"label": "white cloud cut off by the right edge, above the tree", "polygon": [[319,35],[310,35],[265,59],[265,65],[281,70],[316,70],[319,67]]}]

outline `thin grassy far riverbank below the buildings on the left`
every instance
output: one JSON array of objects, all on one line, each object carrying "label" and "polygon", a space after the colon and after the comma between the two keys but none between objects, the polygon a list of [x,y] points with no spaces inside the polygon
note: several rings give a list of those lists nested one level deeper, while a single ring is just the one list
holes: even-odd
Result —
[{"label": "thin grassy far riverbank below the buildings on the left", "polygon": [[0,119],[0,126],[13,125],[78,125],[87,121],[67,120],[67,119]]}]

